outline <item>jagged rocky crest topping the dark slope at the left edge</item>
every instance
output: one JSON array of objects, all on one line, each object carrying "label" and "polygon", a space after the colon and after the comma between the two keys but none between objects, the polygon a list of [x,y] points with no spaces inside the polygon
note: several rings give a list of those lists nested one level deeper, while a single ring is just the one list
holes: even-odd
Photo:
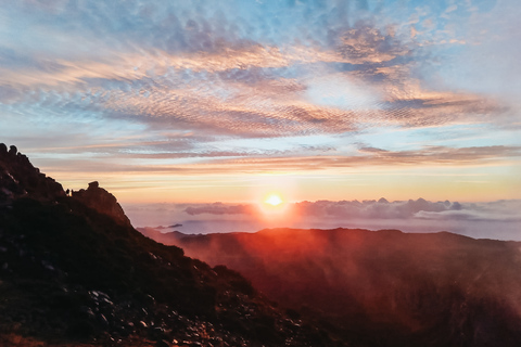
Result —
[{"label": "jagged rocky crest topping the dark slope at the left edge", "polygon": [[30,196],[55,201],[65,196],[62,184],[41,174],[16,146],[0,143],[0,204],[13,198]]}]

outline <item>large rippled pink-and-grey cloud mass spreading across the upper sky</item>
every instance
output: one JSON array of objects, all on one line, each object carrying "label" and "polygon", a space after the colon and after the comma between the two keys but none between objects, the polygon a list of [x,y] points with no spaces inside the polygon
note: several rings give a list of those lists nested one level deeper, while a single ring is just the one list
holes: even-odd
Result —
[{"label": "large rippled pink-and-grey cloud mass spreading across the upper sky", "polygon": [[[291,27],[283,41],[275,37],[266,41],[266,36],[246,39],[245,33],[246,27],[262,31],[268,18],[246,25],[250,14],[233,15],[223,11],[223,4],[205,4],[204,15],[181,4],[161,9],[156,3],[135,2],[120,10],[91,4],[88,11],[84,7],[72,10],[62,2],[43,7],[47,15],[60,20],[52,23],[28,5],[4,10],[23,12],[35,27],[67,27],[62,36],[81,33],[81,42],[99,52],[40,54],[41,49],[35,48],[31,55],[20,59],[15,49],[0,48],[9,62],[2,64],[0,83],[12,90],[4,99],[13,103],[20,91],[25,90],[25,95],[38,90],[41,99],[60,99],[58,104],[39,104],[52,112],[64,113],[74,105],[151,127],[244,138],[343,133],[364,124],[425,127],[482,121],[483,114],[503,112],[482,95],[418,87],[410,69],[419,63],[415,56],[423,53],[389,27],[384,33],[373,20],[348,26],[341,17],[329,16],[329,34],[303,37],[302,30]],[[335,1],[317,5],[312,22],[340,8]],[[271,11],[253,4],[252,10]],[[296,23],[309,22],[304,9],[292,11]],[[363,18],[360,13],[356,15]],[[306,94],[309,90],[313,94],[314,80],[321,73],[327,76],[325,83],[343,79],[336,83],[338,95],[347,97],[323,104]],[[350,97],[356,89],[361,92]],[[78,93],[82,101],[89,100],[87,105],[73,97]],[[360,95],[369,94],[378,97],[360,110]],[[31,101],[24,99],[20,103],[27,107]]]}]

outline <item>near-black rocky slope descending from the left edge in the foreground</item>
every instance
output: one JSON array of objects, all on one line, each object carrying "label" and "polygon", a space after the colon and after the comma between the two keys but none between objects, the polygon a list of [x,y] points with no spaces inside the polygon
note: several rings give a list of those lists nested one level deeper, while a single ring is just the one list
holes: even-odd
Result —
[{"label": "near-black rocky slope descending from the left edge in the foreground", "polygon": [[237,272],[144,237],[94,182],[66,196],[1,145],[0,177],[0,343],[340,345]]}]

